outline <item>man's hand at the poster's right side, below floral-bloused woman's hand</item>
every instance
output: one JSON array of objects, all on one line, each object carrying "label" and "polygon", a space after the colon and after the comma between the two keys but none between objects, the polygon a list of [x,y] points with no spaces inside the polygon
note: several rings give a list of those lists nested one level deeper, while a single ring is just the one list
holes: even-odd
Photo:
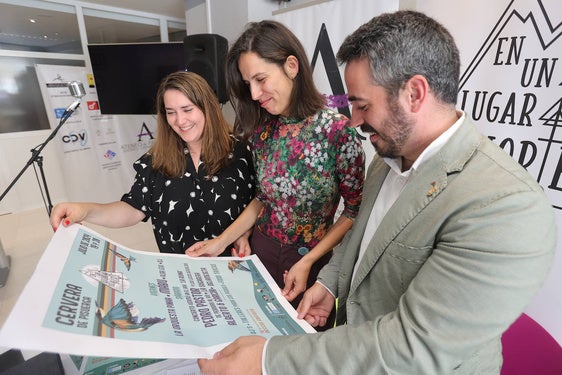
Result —
[{"label": "man's hand at the poster's right side, below floral-bloused woman's hand", "polygon": [[298,318],[306,320],[313,327],[323,327],[334,308],[334,301],[328,289],[317,282],[304,293],[297,307]]}]

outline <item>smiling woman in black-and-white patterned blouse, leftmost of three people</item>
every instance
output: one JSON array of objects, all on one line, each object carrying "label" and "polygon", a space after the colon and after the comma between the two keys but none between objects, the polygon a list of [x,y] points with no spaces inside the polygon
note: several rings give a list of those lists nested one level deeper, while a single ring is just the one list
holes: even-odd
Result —
[{"label": "smiling woman in black-and-white patterned blouse, leftmost of three people", "polygon": [[[156,141],[134,163],[129,193],[105,204],[58,204],[51,214],[55,230],[61,220],[120,228],[150,218],[160,252],[184,254],[221,234],[244,210],[255,193],[252,153],[231,134],[207,82],[195,73],[172,73],[162,80],[156,105]],[[247,248],[247,237],[236,246]],[[230,244],[216,255],[232,255]]]}]

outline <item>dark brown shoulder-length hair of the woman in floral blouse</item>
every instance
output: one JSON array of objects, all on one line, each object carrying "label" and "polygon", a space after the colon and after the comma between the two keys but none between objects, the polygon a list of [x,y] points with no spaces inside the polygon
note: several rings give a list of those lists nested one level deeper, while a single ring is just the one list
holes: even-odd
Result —
[{"label": "dark brown shoulder-length hair of the woman in floral blouse", "polygon": [[280,67],[283,67],[291,55],[299,61],[299,72],[293,80],[289,100],[290,117],[304,119],[325,107],[326,100],[314,85],[312,67],[298,38],[279,22],[251,22],[234,42],[226,57],[226,83],[230,102],[236,111],[236,135],[247,138],[257,125],[276,117],[252,99],[250,89],[242,79],[238,60],[240,55],[247,52],[254,52]]}]

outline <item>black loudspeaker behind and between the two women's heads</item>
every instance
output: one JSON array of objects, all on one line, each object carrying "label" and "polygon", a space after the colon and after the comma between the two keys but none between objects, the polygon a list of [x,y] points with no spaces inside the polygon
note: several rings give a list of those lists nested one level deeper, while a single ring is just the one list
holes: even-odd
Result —
[{"label": "black loudspeaker behind and between the two women's heads", "polygon": [[228,40],[217,34],[194,34],[183,38],[185,66],[205,78],[220,103],[226,103],[224,76]]}]

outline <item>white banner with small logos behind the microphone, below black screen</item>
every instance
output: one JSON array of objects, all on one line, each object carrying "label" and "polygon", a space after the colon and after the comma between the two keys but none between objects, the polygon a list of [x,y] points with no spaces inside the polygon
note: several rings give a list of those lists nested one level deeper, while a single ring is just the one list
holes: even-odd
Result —
[{"label": "white banner with small logos behind the microphone, below black screen", "polygon": [[35,70],[53,129],[75,100],[68,83],[79,81],[86,90],[78,109],[53,139],[60,150],[68,200],[118,200],[133,182],[133,162],[156,137],[155,116],[102,115],[94,77],[84,67],[37,64]]}]

